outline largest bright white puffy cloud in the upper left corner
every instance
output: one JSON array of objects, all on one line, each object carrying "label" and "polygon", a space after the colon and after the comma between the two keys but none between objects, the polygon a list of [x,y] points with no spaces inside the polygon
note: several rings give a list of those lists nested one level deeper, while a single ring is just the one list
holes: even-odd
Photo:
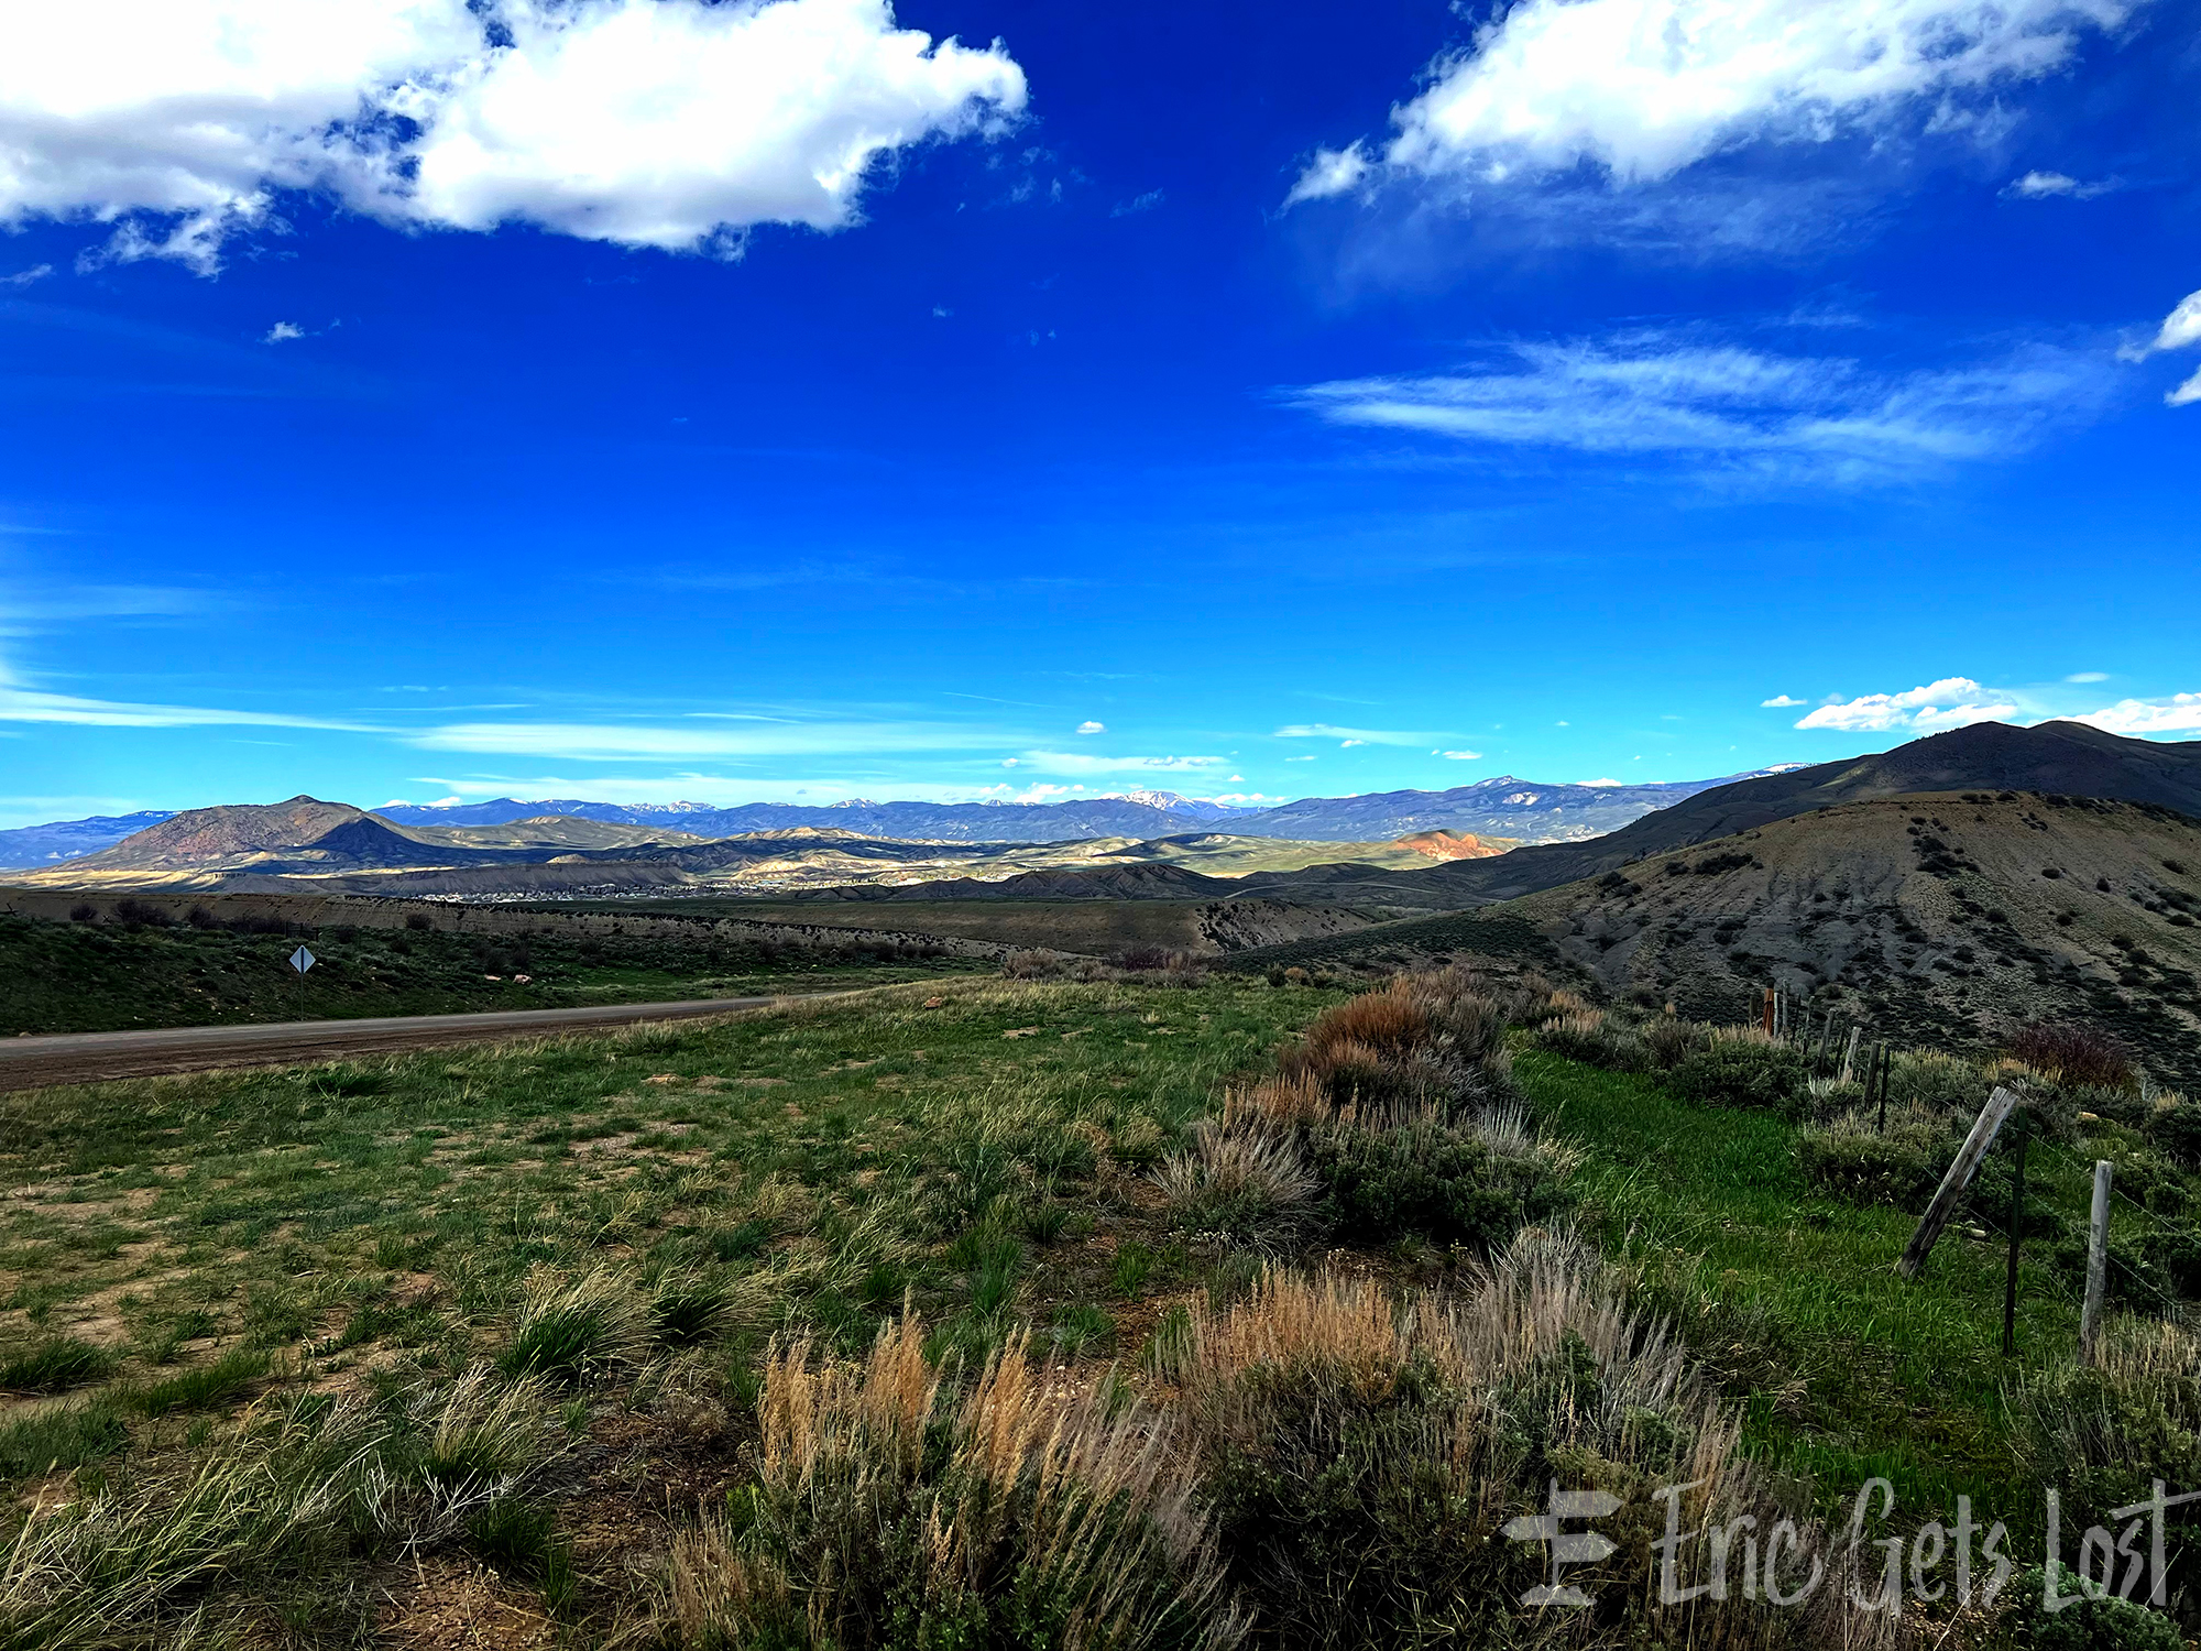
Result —
[{"label": "largest bright white puffy cloud in the upper left corner", "polygon": [[995,128],[1023,70],[887,0],[24,4],[0,55],[0,222],[117,225],[211,269],[284,189],[390,222],[533,222],[733,251],[841,229],[913,143]]}]

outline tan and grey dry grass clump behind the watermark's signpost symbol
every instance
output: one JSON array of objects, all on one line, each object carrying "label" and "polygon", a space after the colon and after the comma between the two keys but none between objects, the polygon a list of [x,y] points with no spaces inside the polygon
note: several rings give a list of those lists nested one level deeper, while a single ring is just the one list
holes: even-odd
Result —
[{"label": "tan and grey dry grass clump behind the watermark's signpost symbol", "polygon": [[[1171,1371],[1222,1552],[1263,1647],[1871,1644],[1840,1589],[1774,1622],[1743,1598],[1655,1609],[1662,1486],[1695,1484],[1682,1528],[1783,1515],[1739,1451],[1739,1418],[1662,1323],[1635,1316],[1583,1244],[1523,1233],[1457,1297],[1393,1301],[1362,1277],[1270,1270],[1195,1319]],[[1569,1572],[1589,1607],[1538,1611],[1545,1550],[1503,1523],[1552,1484],[1609,1490],[1618,1550]],[[1796,1532],[1822,1561],[1818,1532]],[[1690,1581],[1704,1545],[1684,1554]],[[1794,1589],[1796,1576],[1783,1576]],[[1774,1631],[1778,1627],[1778,1633]]]}]

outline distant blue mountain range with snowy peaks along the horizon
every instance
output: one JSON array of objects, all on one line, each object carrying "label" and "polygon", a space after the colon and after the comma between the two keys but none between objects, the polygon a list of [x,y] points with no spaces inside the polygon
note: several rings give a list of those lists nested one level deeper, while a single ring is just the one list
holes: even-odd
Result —
[{"label": "distant blue mountain range with snowy peaks along the horizon", "polygon": [[[1094,837],[1147,841],[1208,830],[1299,843],[1387,843],[1439,830],[1516,843],[1565,843],[1618,830],[1653,810],[1671,808],[1737,777],[1741,775],[1646,786],[1576,786],[1499,775],[1450,790],[1305,797],[1279,808],[1237,808],[1202,797],[1180,797],[1171,790],[1134,790],[1123,797],[1085,797],[1059,803],[874,803],[856,797],[823,808],[797,803],[709,808],[702,803],[497,797],[486,803],[387,803],[374,814],[403,828],[508,826],[555,814],[687,837],[746,837],[817,828],[922,843],[1072,843]],[[125,837],[167,819],[174,819],[174,810],[7,830],[0,832],[0,867],[33,870],[77,861],[110,850]]]}]

